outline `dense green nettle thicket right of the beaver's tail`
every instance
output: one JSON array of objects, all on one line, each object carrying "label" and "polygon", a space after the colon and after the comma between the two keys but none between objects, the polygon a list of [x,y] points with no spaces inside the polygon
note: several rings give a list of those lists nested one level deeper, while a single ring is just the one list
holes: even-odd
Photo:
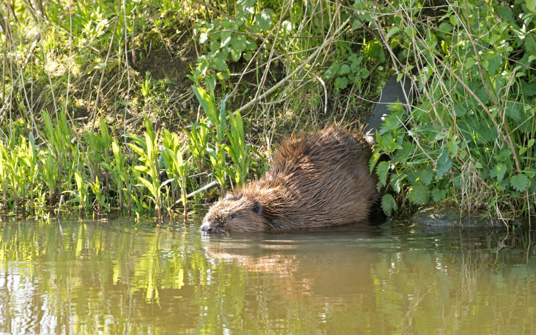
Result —
[{"label": "dense green nettle thicket right of the beaver's tail", "polygon": [[534,214],[534,8],[453,2],[435,25],[416,25],[420,10],[410,2],[360,5],[370,18],[384,15],[381,27],[368,22],[411,64],[403,70],[419,91],[408,120],[393,107],[377,134],[370,169],[388,191],[385,213],[449,202],[502,218]]}]

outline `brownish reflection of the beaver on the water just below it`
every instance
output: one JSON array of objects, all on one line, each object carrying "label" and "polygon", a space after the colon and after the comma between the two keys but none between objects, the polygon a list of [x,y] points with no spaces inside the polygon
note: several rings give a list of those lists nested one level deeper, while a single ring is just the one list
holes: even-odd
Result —
[{"label": "brownish reflection of the beaver on the water just below it", "polygon": [[237,239],[206,237],[203,249],[218,262],[258,273],[269,285],[267,290],[274,287],[285,296],[337,299],[358,295],[360,299],[371,299],[371,264],[379,260],[378,249],[370,248],[369,239],[377,235],[376,228],[333,229],[306,234],[240,235]]}]

